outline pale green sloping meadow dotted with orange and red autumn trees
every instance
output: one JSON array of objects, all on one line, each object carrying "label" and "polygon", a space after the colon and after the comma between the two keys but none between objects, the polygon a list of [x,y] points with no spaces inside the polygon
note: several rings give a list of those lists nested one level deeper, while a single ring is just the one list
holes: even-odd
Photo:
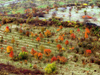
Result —
[{"label": "pale green sloping meadow dotted with orange and red autumn trees", "polygon": [[[9,32],[7,32],[7,27],[9,28]],[[77,75],[85,75],[88,70],[90,71],[89,73],[97,70],[93,73],[97,74],[99,69],[97,64],[93,63],[92,65],[91,63],[91,67],[89,66],[90,63],[87,63],[83,67],[82,60],[88,60],[91,56],[95,57],[96,53],[93,50],[99,49],[99,39],[96,36],[91,36],[91,32],[88,33],[89,30],[86,35],[85,31],[86,29],[82,27],[41,27],[28,24],[15,25],[12,23],[2,25],[0,28],[0,62],[5,64],[9,62],[18,68],[39,69],[45,72],[45,67],[47,64],[51,64],[52,58],[60,56],[60,58],[63,57],[65,60],[52,60],[57,63],[55,73],[67,75],[73,72]],[[92,37],[92,41],[90,41],[90,37]],[[66,41],[68,42],[65,43]],[[90,43],[88,44],[88,42]],[[12,55],[7,52],[8,46],[13,48]],[[44,48],[42,49],[41,47]],[[45,51],[48,49],[50,53],[47,52],[46,54]],[[94,54],[88,54],[88,52],[85,54],[86,50],[91,50]],[[41,56],[34,55],[32,51],[40,53]],[[20,52],[27,52],[27,58],[17,58]],[[97,53],[99,54],[99,51]]]}]

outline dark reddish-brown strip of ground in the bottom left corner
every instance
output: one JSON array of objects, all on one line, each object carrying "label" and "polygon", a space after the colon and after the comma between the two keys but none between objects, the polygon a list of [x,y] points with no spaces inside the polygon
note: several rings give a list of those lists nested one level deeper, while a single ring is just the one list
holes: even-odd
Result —
[{"label": "dark reddish-brown strip of ground in the bottom left corner", "polygon": [[9,64],[0,63],[0,75],[7,75],[7,73],[18,74],[18,75],[44,75],[40,70],[28,70],[23,68],[16,68]]}]

